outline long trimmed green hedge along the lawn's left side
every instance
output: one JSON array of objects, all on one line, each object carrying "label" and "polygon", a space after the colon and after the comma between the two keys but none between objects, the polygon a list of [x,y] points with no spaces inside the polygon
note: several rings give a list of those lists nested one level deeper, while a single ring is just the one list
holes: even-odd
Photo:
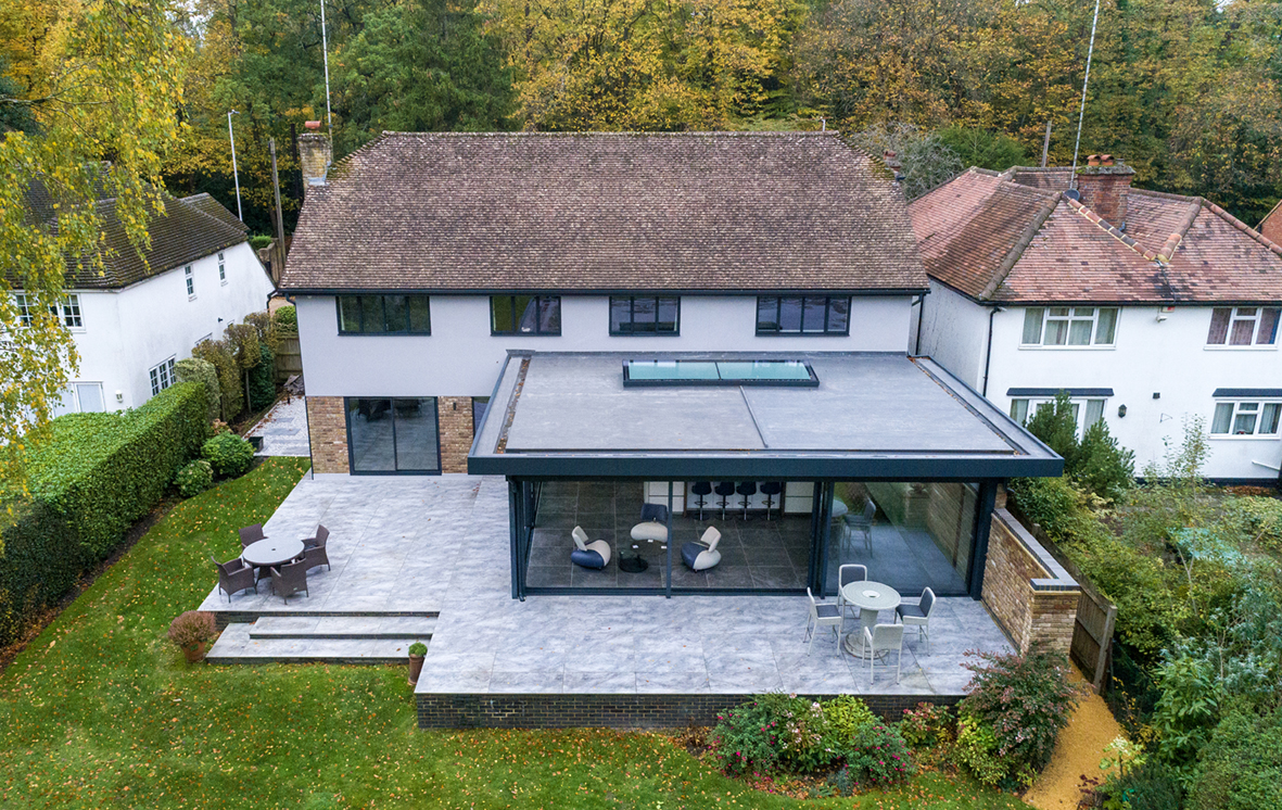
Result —
[{"label": "long trimmed green hedge along the lawn's left side", "polygon": [[29,497],[0,510],[0,646],[106,558],[208,434],[208,395],[178,383],[136,410],[67,414],[26,458]]}]

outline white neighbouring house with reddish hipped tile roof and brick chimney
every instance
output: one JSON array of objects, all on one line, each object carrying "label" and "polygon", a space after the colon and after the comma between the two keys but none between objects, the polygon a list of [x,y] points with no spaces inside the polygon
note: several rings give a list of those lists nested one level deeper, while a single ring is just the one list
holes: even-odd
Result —
[{"label": "white neighbouring house with reddish hipped tile roof and brick chimney", "polygon": [[1161,461],[1191,417],[1206,474],[1273,484],[1282,465],[1282,247],[1201,197],[1077,170],[970,169],[909,205],[931,293],[914,350],[1017,422],[1067,391]]}]

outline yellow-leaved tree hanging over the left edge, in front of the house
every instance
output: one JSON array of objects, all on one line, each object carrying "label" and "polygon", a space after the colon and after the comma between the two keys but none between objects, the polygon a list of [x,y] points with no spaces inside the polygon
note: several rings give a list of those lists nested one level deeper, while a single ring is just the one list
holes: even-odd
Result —
[{"label": "yellow-leaved tree hanging over the left edge, in front of the house", "polygon": [[101,272],[96,200],[115,199],[136,249],[160,210],[187,44],[169,0],[0,3],[0,19],[32,26],[29,38],[0,26],[19,88],[0,95],[0,110],[23,108],[35,120],[33,132],[10,129],[0,140],[0,478],[22,482],[21,454],[78,364],[56,308],[69,269]]}]

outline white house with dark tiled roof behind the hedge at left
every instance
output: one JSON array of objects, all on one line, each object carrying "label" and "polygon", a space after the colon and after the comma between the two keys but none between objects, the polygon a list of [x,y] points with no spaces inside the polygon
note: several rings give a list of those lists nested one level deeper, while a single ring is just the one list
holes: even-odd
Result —
[{"label": "white house with dark tiled roof behind the hedge at left", "polygon": [[[31,195],[37,213],[38,188]],[[267,306],[272,281],[245,226],[208,194],[164,199],[147,223],[151,244],[129,245],[115,201],[97,201],[104,270],[68,263],[59,315],[76,341],[79,370],[55,415],[136,408],[174,382],[174,363],[227,324]],[[27,306],[14,292],[19,311]]]}]

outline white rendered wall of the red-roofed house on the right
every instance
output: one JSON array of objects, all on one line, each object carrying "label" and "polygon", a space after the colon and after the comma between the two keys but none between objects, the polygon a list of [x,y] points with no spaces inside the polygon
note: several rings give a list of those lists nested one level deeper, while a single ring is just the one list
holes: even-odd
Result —
[{"label": "white rendered wall of the red-roofed house on the right", "polygon": [[[933,297],[929,296],[929,297]],[[1009,388],[1113,388],[1104,406],[1109,431],[1136,454],[1136,472],[1178,447],[1183,419],[1201,415],[1210,431],[1215,388],[1282,388],[1277,346],[1208,347],[1211,308],[1124,308],[1114,347],[1020,347],[1024,310],[994,318],[988,399],[1010,410]],[[951,369],[950,369],[951,370]],[[1160,399],[1153,399],[1160,393]],[[1127,415],[1118,417],[1126,405]],[[1213,437],[1210,478],[1277,479],[1282,441],[1274,437]]]}]

